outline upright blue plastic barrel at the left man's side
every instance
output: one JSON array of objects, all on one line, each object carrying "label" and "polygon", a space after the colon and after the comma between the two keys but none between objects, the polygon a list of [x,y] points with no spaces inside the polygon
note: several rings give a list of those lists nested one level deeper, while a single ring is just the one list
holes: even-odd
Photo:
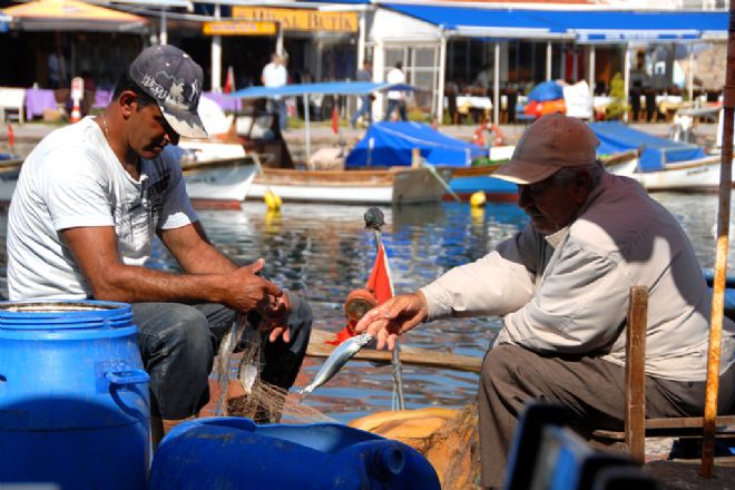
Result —
[{"label": "upright blue plastic barrel at the left man's side", "polygon": [[148,374],[130,306],[0,303],[0,487],[143,489]]}]

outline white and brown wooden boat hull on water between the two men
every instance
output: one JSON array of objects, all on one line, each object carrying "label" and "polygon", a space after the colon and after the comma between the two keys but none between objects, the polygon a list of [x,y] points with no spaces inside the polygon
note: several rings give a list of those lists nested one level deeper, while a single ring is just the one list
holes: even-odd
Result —
[{"label": "white and brown wooden boat hull on water between the two men", "polygon": [[[439,171],[439,170],[438,170]],[[451,173],[439,171],[449,180]],[[441,199],[445,189],[429,168],[381,170],[297,170],[264,168],[247,197],[271,190],[284,202],[331,204],[413,204]]]}]

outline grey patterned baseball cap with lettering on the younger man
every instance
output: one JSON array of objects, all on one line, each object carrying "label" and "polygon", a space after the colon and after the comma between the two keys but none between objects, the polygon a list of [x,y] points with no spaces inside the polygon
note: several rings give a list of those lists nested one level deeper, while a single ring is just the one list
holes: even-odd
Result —
[{"label": "grey patterned baseball cap with lettering on the younger man", "polygon": [[130,78],[153,97],[170,127],[180,136],[206,138],[197,112],[204,72],[186,52],[175,46],[146,48],[133,60]]}]

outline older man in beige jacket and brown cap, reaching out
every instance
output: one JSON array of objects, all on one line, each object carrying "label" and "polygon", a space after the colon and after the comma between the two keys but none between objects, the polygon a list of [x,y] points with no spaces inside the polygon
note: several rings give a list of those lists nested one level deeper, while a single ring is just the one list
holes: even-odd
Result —
[{"label": "older man in beige jacket and brown cap, reaching out", "polygon": [[[649,290],[646,415],[702,416],[712,293],[676,218],[605,171],[579,119],[542,116],[493,176],[518,184],[530,222],[479,261],[395,296],[355,325],[393,349],[422,322],[502,316],[482,363],[481,483],[500,488],[523,405],[566,405],[576,425],[621,430],[629,288]],[[718,413],[735,404],[735,324],[724,318]]]}]

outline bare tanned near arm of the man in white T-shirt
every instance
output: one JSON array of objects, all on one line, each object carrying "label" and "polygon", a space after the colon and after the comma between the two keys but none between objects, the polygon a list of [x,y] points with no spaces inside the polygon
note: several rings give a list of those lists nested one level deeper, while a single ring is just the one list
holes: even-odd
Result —
[{"label": "bare tanned near arm of the man in white T-shirt", "polygon": [[[197,233],[193,226],[192,233]],[[267,308],[273,297],[282,295],[280,287],[256,275],[263,267],[262,261],[239,268],[229,263],[233,267],[229,268],[229,261],[219,255],[220,262],[217,264],[223,270],[217,273],[170,274],[121,263],[117,253],[117,236],[111,226],[68,228],[61,232],[61,236],[97,300],[128,303],[213,302],[247,312],[255,307]],[[204,245],[196,246],[198,252],[205,254],[202,262],[218,254],[214,247],[206,245],[212,251],[202,252],[205,251]],[[196,271],[196,255],[184,255],[185,270]]]}]

